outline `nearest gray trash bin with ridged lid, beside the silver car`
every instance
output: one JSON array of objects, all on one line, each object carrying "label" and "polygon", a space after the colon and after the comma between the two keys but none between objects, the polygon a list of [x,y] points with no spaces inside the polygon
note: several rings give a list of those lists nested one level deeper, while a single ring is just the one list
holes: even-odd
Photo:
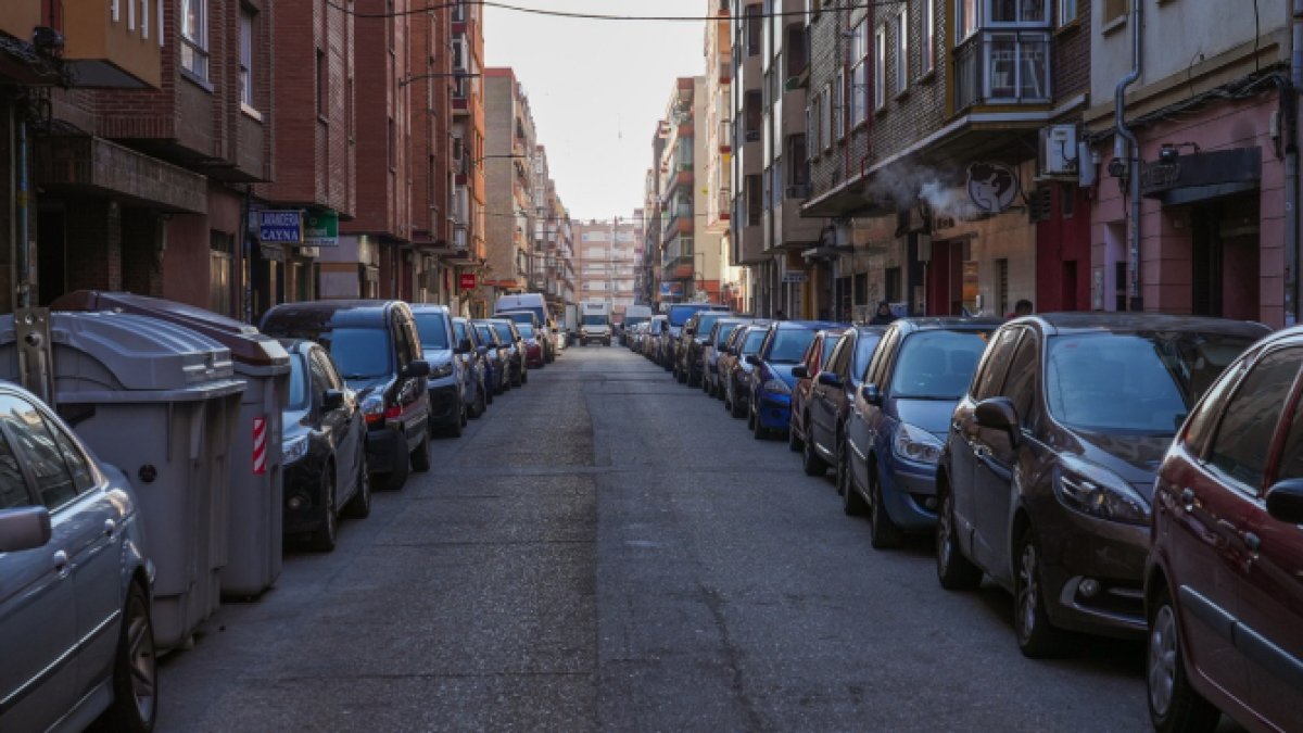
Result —
[{"label": "nearest gray trash bin with ridged lid, beside the silver car", "polygon": [[[229,446],[245,385],[231,352],[143,316],[51,314],[55,407],[141,502],[156,567],[154,634],[184,644],[220,603]],[[0,378],[18,380],[13,316],[0,316]]]}]

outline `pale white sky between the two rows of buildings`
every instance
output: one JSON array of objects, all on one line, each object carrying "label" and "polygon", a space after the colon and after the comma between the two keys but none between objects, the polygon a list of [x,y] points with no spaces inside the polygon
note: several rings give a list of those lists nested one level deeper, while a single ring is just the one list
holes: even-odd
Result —
[{"label": "pale white sky between the two rows of buildings", "polygon": [[[528,8],[704,17],[713,0],[511,0]],[[701,76],[706,26],[602,21],[485,8],[485,64],[525,87],[556,193],[575,219],[642,206],[652,138],[678,77]]]}]

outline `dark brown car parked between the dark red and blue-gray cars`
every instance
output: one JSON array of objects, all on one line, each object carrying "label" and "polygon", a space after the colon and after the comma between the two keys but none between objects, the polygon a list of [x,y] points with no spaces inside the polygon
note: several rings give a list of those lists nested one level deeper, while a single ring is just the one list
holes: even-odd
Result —
[{"label": "dark brown car parked between the dark red and blue-gray cars", "polygon": [[1157,313],[1005,325],[950,417],[937,576],[1015,595],[1018,646],[1140,636],[1154,471],[1222,369],[1268,329]]}]

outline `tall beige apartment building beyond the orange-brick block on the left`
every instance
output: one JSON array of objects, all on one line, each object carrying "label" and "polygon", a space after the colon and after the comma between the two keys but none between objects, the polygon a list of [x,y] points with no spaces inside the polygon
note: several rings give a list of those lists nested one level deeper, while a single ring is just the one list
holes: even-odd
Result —
[{"label": "tall beige apartment building beyond the orange-brick block on the left", "polygon": [[529,290],[534,237],[534,117],[509,68],[485,70],[485,181],[490,303]]}]

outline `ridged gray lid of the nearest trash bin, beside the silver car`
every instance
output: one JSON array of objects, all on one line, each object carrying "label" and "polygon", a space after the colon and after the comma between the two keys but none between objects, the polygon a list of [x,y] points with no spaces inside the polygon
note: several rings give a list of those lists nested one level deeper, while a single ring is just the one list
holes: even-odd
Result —
[{"label": "ridged gray lid of the nearest trash bin, beside the silver car", "polygon": [[[192,390],[228,382],[231,350],[185,326],[129,313],[51,313],[55,390]],[[13,314],[0,316],[0,378],[17,381]]]}]

